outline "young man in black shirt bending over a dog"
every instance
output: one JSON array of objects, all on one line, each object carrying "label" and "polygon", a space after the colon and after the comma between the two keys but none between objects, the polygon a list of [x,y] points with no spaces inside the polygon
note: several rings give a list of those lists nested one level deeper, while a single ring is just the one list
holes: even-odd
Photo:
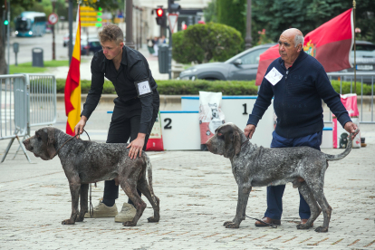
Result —
[{"label": "young man in black shirt bending over a dog", "polygon": [[[138,51],[124,46],[123,33],[114,24],[105,26],[99,33],[102,50],[91,61],[91,89],[83,104],[81,120],[75,134],[82,134],[87,120],[101,99],[104,77],[110,80],[118,97],[113,110],[107,143],[126,143],[130,139],[129,157],[136,159],[146,149],[149,133],[158,117],[159,92],[149,70],[149,63]],[[139,191],[138,191],[139,192]],[[140,196],[140,192],[139,192]],[[131,200],[124,203],[120,214],[115,204],[119,186],[115,180],[105,181],[102,202],[94,207],[94,217],[115,216],[116,222],[131,220],[135,208]],[[90,217],[86,213],[85,217]]]}]

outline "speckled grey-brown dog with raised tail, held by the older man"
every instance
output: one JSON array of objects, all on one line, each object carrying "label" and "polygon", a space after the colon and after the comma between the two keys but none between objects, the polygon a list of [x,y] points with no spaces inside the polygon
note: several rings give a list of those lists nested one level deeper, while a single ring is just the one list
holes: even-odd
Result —
[{"label": "speckled grey-brown dog with raised tail, held by the older man", "polygon": [[[300,224],[297,228],[312,227],[313,221],[322,212],[323,225],[315,231],[328,231],[332,207],[323,193],[324,173],[328,160],[343,159],[351,152],[351,136],[347,148],[340,155],[324,154],[310,147],[265,149],[251,144],[235,124],[226,123],[216,129],[214,137],[208,139],[206,144],[210,152],[230,159],[238,185],[236,216],[232,221],[224,223],[226,228],[238,228],[245,219],[245,209],[252,187],[277,186],[292,182],[311,209],[311,216],[306,224]],[[302,178],[304,181],[300,182]]]}]

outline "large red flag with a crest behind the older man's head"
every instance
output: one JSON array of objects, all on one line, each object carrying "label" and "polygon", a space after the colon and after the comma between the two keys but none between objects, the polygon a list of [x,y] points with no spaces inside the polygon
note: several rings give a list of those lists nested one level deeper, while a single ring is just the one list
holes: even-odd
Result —
[{"label": "large red flag with a crest behind the older man's head", "polygon": [[[352,9],[349,9],[306,34],[303,51],[322,63],[325,72],[337,72],[352,67],[349,57],[353,43]],[[276,44],[260,55],[255,85],[262,83],[268,66],[280,57],[278,47]]]}]

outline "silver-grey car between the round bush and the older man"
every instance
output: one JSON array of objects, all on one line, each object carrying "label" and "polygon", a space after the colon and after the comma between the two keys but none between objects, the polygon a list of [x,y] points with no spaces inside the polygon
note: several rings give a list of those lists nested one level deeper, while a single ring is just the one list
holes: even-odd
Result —
[{"label": "silver-grey car between the round bush and the older man", "polygon": [[259,56],[276,43],[255,46],[239,53],[224,63],[202,63],[179,74],[181,80],[255,80]]}]

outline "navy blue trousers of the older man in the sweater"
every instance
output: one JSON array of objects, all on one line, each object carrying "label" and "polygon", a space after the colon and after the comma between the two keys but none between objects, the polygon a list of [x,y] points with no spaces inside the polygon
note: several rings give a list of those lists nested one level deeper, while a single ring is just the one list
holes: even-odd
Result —
[{"label": "navy blue trousers of the older man in the sweater", "polygon": [[[322,144],[322,131],[314,133],[312,135],[286,139],[279,136],[276,132],[273,132],[273,139],[271,142],[271,148],[287,148],[287,147],[300,147],[308,146],[313,149],[321,150]],[[269,186],[267,187],[267,210],[264,213],[264,217],[270,217],[272,219],[281,219],[283,214],[283,194],[285,185]],[[310,207],[304,200],[300,193],[300,208],[299,215],[302,219],[310,217]]]}]

